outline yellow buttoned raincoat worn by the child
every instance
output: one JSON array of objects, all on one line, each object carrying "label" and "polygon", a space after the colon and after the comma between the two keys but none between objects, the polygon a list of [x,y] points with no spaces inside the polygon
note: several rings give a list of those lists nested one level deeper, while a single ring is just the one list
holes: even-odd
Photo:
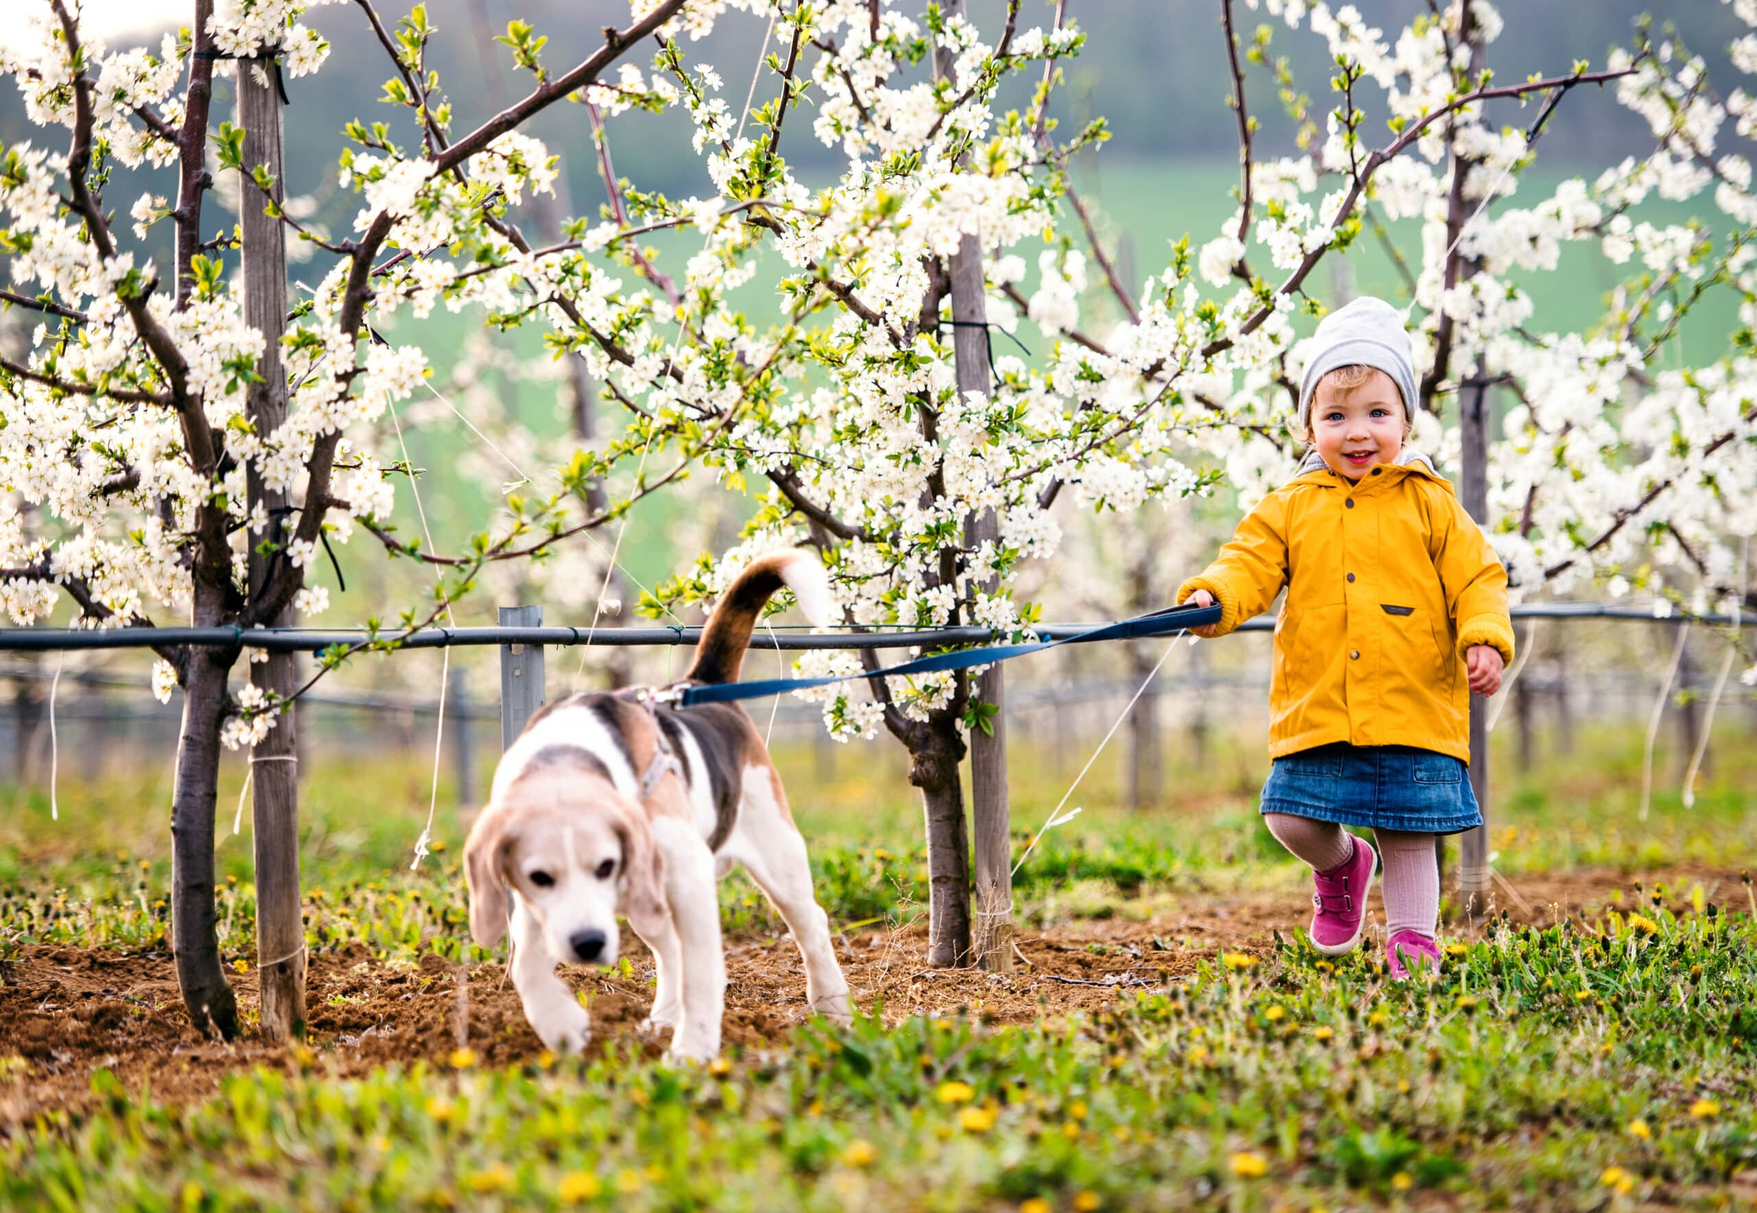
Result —
[{"label": "yellow buttoned raincoat worn by the child", "polygon": [[1508,574],[1450,481],[1420,458],[1355,483],[1307,470],[1265,497],[1175,600],[1212,593],[1225,635],[1283,585],[1272,758],[1346,741],[1471,760],[1464,655],[1490,644],[1511,665],[1513,621]]}]

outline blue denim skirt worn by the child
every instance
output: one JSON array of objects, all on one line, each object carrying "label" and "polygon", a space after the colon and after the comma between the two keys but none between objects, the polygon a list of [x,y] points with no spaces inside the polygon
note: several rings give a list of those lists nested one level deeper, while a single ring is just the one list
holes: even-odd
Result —
[{"label": "blue denim skirt worn by the child", "polygon": [[1262,811],[1416,834],[1458,834],[1483,823],[1458,758],[1346,741],[1276,758]]}]

